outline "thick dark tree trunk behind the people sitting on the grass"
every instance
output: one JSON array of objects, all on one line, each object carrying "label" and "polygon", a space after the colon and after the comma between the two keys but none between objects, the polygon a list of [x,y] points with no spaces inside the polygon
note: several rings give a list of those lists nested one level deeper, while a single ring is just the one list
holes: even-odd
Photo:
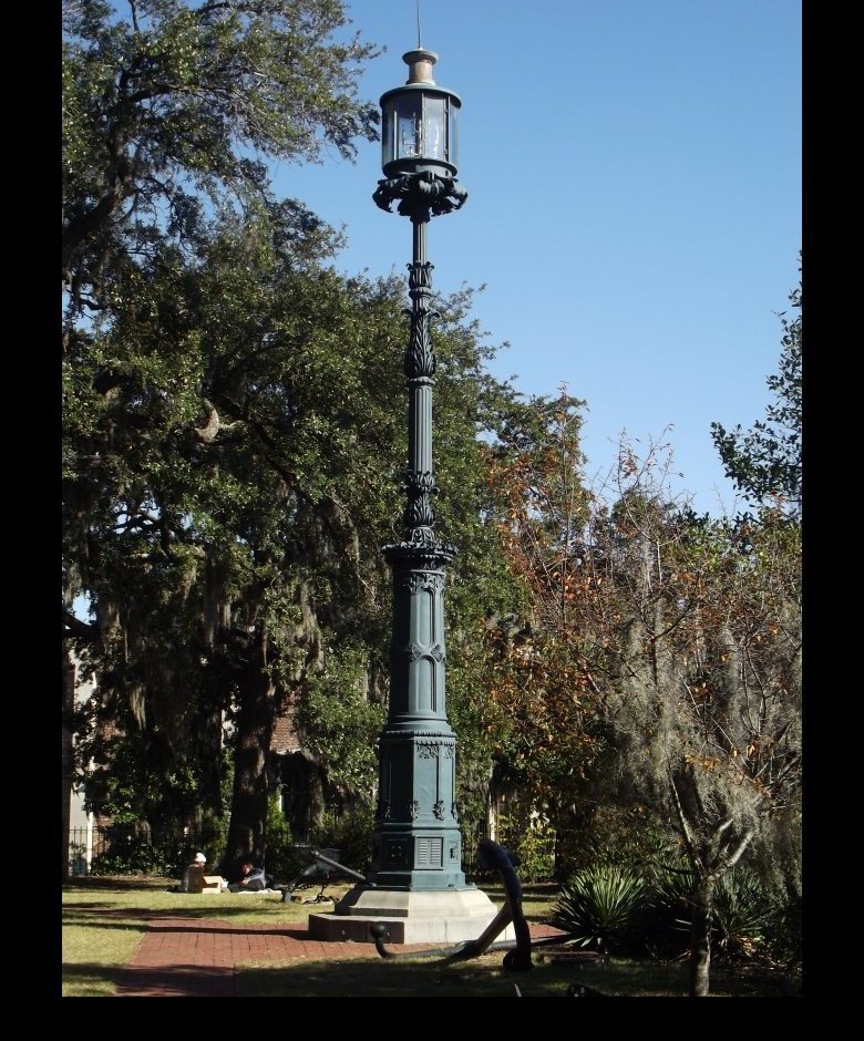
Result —
[{"label": "thick dark tree trunk behind the people sitting on the grass", "polygon": [[267,760],[275,722],[275,688],[260,652],[237,677],[239,711],[235,732],[234,794],[228,842],[222,874],[229,880],[240,877],[239,866],[250,859],[264,865],[267,841]]}]

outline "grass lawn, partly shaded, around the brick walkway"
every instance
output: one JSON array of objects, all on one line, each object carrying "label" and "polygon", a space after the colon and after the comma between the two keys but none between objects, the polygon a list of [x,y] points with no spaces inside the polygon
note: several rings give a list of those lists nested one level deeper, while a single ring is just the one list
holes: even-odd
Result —
[{"label": "grass lawn, partly shaded, around the brick walkway", "polygon": [[[176,885],[166,878],[86,878],[63,887],[62,996],[107,998],[116,992],[125,966],[132,960],[146,926],[145,915],[216,918],[237,925],[306,923],[310,911],[328,911],[331,904],[284,904],[279,895],[233,898],[167,891]],[[338,898],[349,887],[328,886]],[[483,885],[496,905],[504,900],[501,886]],[[296,894],[311,900],[318,887]],[[525,886],[526,918],[548,921],[556,899],[553,886]],[[398,950],[398,948],[393,948]],[[680,963],[607,959],[586,965],[554,951],[534,951],[529,972],[507,972],[503,954],[495,951],[452,966],[436,958],[381,959],[373,955],[357,960],[249,962],[237,977],[239,997],[564,997],[578,980],[609,997],[686,997],[687,969]],[[716,966],[716,997],[795,997],[800,980],[764,969],[734,970]],[[520,993],[517,993],[517,988]]]}]

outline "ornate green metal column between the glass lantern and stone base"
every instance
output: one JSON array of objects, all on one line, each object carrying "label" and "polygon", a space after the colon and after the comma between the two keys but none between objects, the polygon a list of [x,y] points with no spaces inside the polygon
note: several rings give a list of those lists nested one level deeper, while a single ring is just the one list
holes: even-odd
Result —
[{"label": "ornate green metal column between the glass lantern and stone base", "polygon": [[455,800],[456,739],[446,718],[444,568],[454,550],[434,534],[432,457],[435,354],[426,259],[429,210],[412,215],[409,267],[405,539],[385,546],[393,571],[390,708],[379,751],[379,800],[369,880],[389,889],[465,885]]}]

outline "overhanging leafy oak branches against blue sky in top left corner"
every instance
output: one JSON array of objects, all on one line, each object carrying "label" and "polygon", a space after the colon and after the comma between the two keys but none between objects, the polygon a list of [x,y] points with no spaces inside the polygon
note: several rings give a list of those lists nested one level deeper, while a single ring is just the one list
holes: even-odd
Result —
[{"label": "overhanging leafy oak branches against blue sky in top left corner", "polygon": [[376,136],[340,0],[64,0],[63,281],[70,319],[122,299],[138,258],[266,193],[263,161],[350,158]]}]

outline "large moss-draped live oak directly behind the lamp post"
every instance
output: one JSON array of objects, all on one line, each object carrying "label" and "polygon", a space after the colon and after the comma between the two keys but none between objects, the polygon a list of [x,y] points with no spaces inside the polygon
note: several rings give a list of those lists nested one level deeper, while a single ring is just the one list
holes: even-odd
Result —
[{"label": "large moss-draped live oak directly behind the lamp post", "polygon": [[[196,705],[210,720],[232,709],[229,852],[251,846],[259,856],[270,734],[288,701],[333,781],[366,791],[373,783],[390,599],[379,547],[401,514],[395,470],[405,437],[403,287],[298,272],[264,238],[275,220],[270,214],[260,225],[260,238],[249,221],[226,226],[195,269],[151,271],[160,307],[119,315],[99,360],[90,352],[76,365],[88,389],[99,365],[122,367],[122,389],[107,402],[82,391],[82,408],[69,416],[111,430],[114,451],[103,451],[99,466],[123,466],[136,488],[106,503],[104,528],[90,516],[100,556],[99,570],[89,560],[89,588],[97,617],[115,619],[113,645],[101,626],[103,688],[122,677],[140,725],[157,720],[184,755],[204,733]],[[476,430],[494,418],[486,400],[507,394],[482,372],[485,353],[464,326],[465,306],[440,302],[436,339],[446,386],[441,470],[450,474],[442,525],[467,550],[456,595],[490,569]],[[96,368],[84,379],[88,365]],[[183,404],[185,372],[194,373],[191,400],[193,391],[206,398],[198,412]],[[138,455],[130,415],[147,416]],[[73,433],[82,451],[83,432]],[[116,494],[109,482],[99,487]],[[460,612],[454,599],[451,615]],[[218,776],[210,777],[202,795],[216,800]]]}]

